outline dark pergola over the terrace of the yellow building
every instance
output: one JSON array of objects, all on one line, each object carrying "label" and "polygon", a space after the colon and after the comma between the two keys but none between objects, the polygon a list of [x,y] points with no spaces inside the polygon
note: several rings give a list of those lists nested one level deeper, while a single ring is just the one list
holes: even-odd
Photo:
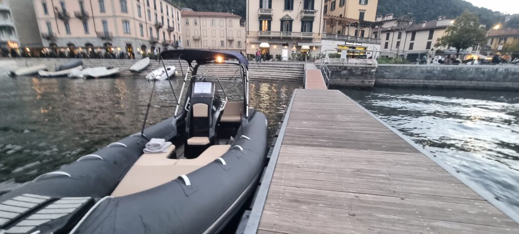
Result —
[{"label": "dark pergola over the terrace of the yellow building", "polygon": [[[373,37],[373,32],[375,28],[378,26],[378,35],[380,35],[380,30],[382,28],[383,23],[381,22],[373,22],[373,21],[366,21],[366,20],[358,20],[358,19],[352,19],[352,18],[343,18],[343,17],[337,17],[337,16],[324,16],[324,33],[327,32],[328,27],[331,27],[332,29],[335,28],[335,32],[337,32],[338,27],[342,27],[344,30],[343,34],[350,36],[350,27],[357,28],[357,32],[360,32],[361,28],[369,28],[368,34],[366,37]],[[346,30],[348,29],[348,30]],[[333,32],[333,31],[332,31]],[[346,32],[346,33],[344,33]],[[357,35],[360,36],[360,35]]]}]

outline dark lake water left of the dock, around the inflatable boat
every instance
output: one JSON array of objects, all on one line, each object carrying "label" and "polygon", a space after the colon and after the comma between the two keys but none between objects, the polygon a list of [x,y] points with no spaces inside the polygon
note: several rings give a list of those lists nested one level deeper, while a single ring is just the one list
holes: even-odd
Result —
[{"label": "dark lake water left of the dock, around the inflatable boat", "polygon": [[[182,81],[172,80],[176,94]],[[82,155],[139,132],[152,82],[144,77],[71,80],[0,77],[0,194]],[[242,98],[240,82],[223,82]],[[298,83],[251,82],[250,105],[267,115],[269,142]],[[233,93],[235,93],[233,95]],[[157,82],[148,126],[174,113],[167,81]]]}]

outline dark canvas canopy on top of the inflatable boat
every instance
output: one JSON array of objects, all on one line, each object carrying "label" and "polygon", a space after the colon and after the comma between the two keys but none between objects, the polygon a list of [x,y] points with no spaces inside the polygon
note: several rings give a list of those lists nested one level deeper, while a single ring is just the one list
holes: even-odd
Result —
[{"label": "dark canvas canopy on top of the inflatable boat", "polygon": [[160,54],[162,59],[182,59],[189,64],[196,61],[197,63],[204,63],[213,61],[216,57],[223,57],[224,59],[236,59],[239,63],[244,64],[249,68],[249,61],[242,54],[234,51],[224,50],[203,50],[203,49],[172,49],[162,51]]}]

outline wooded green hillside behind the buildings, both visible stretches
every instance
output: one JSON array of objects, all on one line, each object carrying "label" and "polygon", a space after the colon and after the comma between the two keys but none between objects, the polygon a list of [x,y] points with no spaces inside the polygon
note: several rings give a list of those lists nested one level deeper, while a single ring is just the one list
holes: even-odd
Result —
[{"label": "wooded green hillside behind the buildings, both visible stretches", "polygon": [[[233,12],[243,19],[246,14],[245,0],[173,0],[173,2],[196,11]],[[393,13],[395,17],[399,17],[411,12],[416,21],[422,21],[433,20],[438,16],[456,18],[465,9],[474,12],[480,18],[481,23],[487,25],[487,28],[504,18],[497,11],[475,7],[463,0],[379,0],[377,14]]]}]

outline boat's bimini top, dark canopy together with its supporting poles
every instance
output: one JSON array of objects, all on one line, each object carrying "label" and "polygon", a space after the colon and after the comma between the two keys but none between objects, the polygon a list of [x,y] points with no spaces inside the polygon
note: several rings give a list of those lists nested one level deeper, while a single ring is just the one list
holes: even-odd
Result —
[{"label": "boat's bimini top, dark canopy together with its supporting poles", "polygon": [[[235,64],[240,66],[241,74],[242,74],[242,82],[243,82],[243,108],[244,108],[244,118],[249,118],[249,61],[243,57],[240,53],[232,52],[232,51],[221,51],[221,50],[203,50],[203,49],[175,49],[175,50],[165,50],[160,54],[162,60],[166,59],[178,59],[185,60],[189,64],[191,68],[192,75],[197,75],[198,67],[203,64]],[[193,67],[193,61],[196,62],[196,65]],[[184,87],[186,82],[188,82],[188,72],[184,75],[184,84],[182,85],[182,89],[180,91],[180,97],[182,97],[184,92]],[[218,80],[219,82],[219,80]],[[186,103],[187,105],[187,103]],[[175,109],[175,116],[177,112],[182,108],[180,103],[177,103]]]}]

